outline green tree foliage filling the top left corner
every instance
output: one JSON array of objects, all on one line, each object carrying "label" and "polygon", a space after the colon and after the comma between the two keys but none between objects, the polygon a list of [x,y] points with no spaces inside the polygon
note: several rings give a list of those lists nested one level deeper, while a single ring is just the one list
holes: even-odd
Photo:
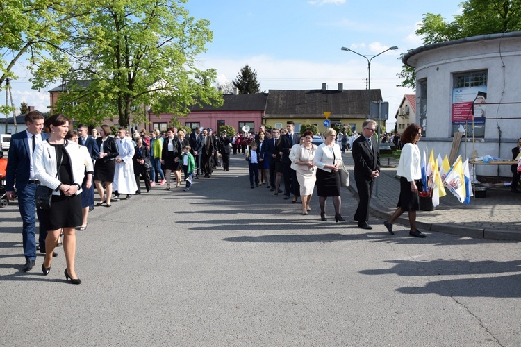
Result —
[{"label": "green tree foliage filling the top left corner", "polygon": [[[69,69],[67,44],[72,22],[88,11],[79,0],[8,0],[0,2],[0,85],[16,79],[15,66],[26,67],[33,89],[42,78],[58,78]],[[10,107],[9,107],[10,108]],[[11,108],[12,110],[12,108]],[[2,108],[1,112],[8,111]]]}]

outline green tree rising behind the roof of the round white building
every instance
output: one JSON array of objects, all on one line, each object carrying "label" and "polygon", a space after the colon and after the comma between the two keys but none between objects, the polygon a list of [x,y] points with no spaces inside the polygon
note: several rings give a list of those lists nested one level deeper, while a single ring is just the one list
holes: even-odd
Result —
[{"label": "green tree rising behind the roof of the round white building", "polygon": [[[447,22],[441,15],[424,14],[416,31],[416,35],[423,37],[423,44],[521,30],[519,0],[467,0],[460,6],[461,15],[455,15],[452,22]],[[403,56],[398,59],[401,61]],[[399,87],[416,87],[415,70],[412,67],[404,65],[397,76],[402,79]]]}]

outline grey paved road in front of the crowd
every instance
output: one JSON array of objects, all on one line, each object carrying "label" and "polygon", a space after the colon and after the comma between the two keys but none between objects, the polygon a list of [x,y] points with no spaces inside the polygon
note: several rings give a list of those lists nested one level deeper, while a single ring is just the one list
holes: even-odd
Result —
[{"label": "grey paved road in front of the crowd", "polygon": [[[15,206],[0,210],[1,346],[519,346],[519,243],[426,232],[381,220],[319,221],[246,162],[96,208],[78,232],[67,284],[21,271]],[[356,199],[346,189],[342,214]],[[332,214],[331,201],[328,214]]]}]

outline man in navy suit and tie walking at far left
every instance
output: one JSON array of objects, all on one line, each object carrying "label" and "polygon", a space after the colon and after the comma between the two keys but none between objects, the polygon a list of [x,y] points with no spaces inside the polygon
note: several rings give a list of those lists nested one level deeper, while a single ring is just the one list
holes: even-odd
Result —
[{"label": "man in navy suit and tie walking at far left", "polygon": [[[47,229],[42,219],[42,211],[40,209],[36,210],[34,194],[40,182],[34,176],[33,151],[36,144],[48,139],[49,135],[42,133],[44,128],[44,115],[42,112],[28,112],[25,116],[25,123],[27,130],[16,133],[11,137],[6,169],[6,191],[10,200],[13,200],[16,195],[18,196],[18,206],[23,222],[22,244],[26,259],[23,270],[27,272],[33,269],[36,262],[36,214],[38,214],[38,220],[40,221],[40,235],[38,237],[40,252],[45,253]],[[53,257],[56,257],[56,255],[58,254],[53,253]]]}]

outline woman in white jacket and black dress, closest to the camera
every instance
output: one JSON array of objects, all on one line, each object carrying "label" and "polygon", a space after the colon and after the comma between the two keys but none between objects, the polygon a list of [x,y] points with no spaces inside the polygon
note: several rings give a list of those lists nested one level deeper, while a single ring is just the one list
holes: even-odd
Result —
[{"label": "woman in white jacket and black dress, closest to the camera", "polygon": [[81,225],[81,183],[85,176],[85,157],[77,144],[65,139],[69,119],[64,115],[49,118],[51,137],[40,142],[33,153],[35,178],[53,190],[51,208],[44,214],[47,227],[46,254],[42,264],[44,275],[51,271],[54,247],[63,229],[63,251],[67,268],[65,280],[79,285],[74,259],[76,257],[76,227]]}]

